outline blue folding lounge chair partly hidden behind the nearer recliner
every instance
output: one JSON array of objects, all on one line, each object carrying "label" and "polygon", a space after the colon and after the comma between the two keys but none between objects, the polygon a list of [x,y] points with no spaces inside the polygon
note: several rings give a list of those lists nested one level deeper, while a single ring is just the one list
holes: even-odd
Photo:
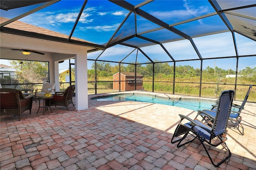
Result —
[{"label": "blue folding lounge chair partly hidden behind the nearer recliner", "polygon": [[[242,105],[235,105],[235,104],[232,105],[232,110],[231,110],[230,117],[229,117],[231,125],[229,124],[228,127],[229,128],[230,127],[236,128],[240,132],[240,134],[242,134],[242,135],[244,135],[244,127],[241,124],[242,117],[240,116],[240,113],[244,109],[244,105],[245,105],[245,103],[246,103],[246,101],[247,101],[247,99],[249,97],[249,94],[250,94],[251,90],[252,90],[252,85],[250,85]],[[235,111],[234,110],[235,108],[237,108],[239,110]],[[205,113],[207,113],[207,115]],[[216,115],[216,106],[213,105],[212,110],[198,111],[198,115],[200,115],[204,119],[204,121],[207,121],[208,123],[212,123],[212,121],[213,121],[213,119],[214,119],[214,117]],[[210,117],[208,115],[210,115]],[[239,129],[239,127],[242,128],[242,131]]]}]

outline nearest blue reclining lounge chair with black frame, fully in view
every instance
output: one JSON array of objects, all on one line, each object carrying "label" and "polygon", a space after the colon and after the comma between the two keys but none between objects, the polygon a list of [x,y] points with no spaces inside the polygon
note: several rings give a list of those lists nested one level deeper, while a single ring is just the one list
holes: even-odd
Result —
[{"label": "nearest blue reclining lounge chair with black frame, fully in view", "polygon": [[[233,98],[233,90],[222,91],[220,93],[216,116],[212,123],[212,127],[204,124],[201,121],[198,121],[197,119],[192,120],[189,117],[180,115],[181,120],[178,126],[176,127],[176,130],[174,131],[171,142],[178,142],[177,147],[180,147],[184,146],[185,144],[188,144],[189,142],[192,142],[197,138],[203,145],[212,164],[216,167],[220,166],[220,164],[222,164],[231,156],[231,152],[225,141],[227,140],[226,127],[228,124],[228,117],[230,115]],[[183,120],[187,120],[187,123],[182,123]],[[188,134],[192,135],[193,138],[189,138],[188,141],[182,142],[188,136]],[[218,139],[220,141],[217,144],[215,144],[215,142],[217,142]],[[224,158],[217,164],[214,164],[206,146],[204,145],[204,142],[206,142],[210,146],[219,146],[220,144],[224,144],[223,146],[225,146],[225,149],[228,151],[228,156],[226,156],[226,158]]]}]

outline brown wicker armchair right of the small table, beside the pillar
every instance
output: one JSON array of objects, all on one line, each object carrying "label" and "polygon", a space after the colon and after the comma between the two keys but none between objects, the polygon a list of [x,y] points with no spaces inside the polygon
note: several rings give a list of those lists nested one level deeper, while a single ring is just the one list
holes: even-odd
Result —
[{"label": "brown wicker armchair right of the small table, beside the pillar", "polygon": [[75,91],[75,85],[69,86],[64,92],[55,92],[53,94],[53,98],[51,99],[51,106],[64,106],[68,110],[68,105],[72,104],[74,107],[74,103],[72,100],[73,94]]}]

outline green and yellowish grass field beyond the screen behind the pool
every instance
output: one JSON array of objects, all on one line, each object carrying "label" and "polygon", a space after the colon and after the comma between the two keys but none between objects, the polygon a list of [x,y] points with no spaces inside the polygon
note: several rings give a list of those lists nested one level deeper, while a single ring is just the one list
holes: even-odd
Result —
[{"label": "green and yellowish grass field beyond the screen behind the pool", "polygon": [[[147,79],[144,79],[143,87],[144,91],[152,91],[152,81],[147,81]],[[110,77],[104,77],[103,79],[100,79],[100,81],[111,81]],[[164,79],[157,80],[162,82],[155,82],[154,83],[154,92],[159,93],[173,93],[173,83],[172,82],[166,82]],[[190,79],[176,79],[177,82],[197,82],[197,80],[194,80],[193,78]],[[213,81],[213,80],[212,80]],[[226,79],[224,81],[230,81],[228,83],[232,83],[232,79]],[[209,82],[211,82],[209,80]],[[110,82],[109,82],[110,83]],[[252,82],[246,82],[246,84],[253,84]],[[218,98],[220,95],[220,92],[223,90],[229,90],[229,89],[235,89],[235,85],[218,85],[218,90],[216,90],[216,84],[204,84],[202,83],[202,89],[201,89],[201,97],[211,97],[211,98]],[[248,85],[237,85],[236,87],[236,101],[243,101],[244,97],[248,91],[249,86]],[[249,102],[256,102],[256,90],[255,87],[252,87],[252,91],[248,97]],[[200,84],[199,83],[175,83],[175,89],[174,94],[178,95],[189,95],[189,96],[199,96],[199,89]],[[106,85],[97,85],[97,93],[110,93],[110,92],[117,92],[113,91],[112,88],[106,87]],[[216,93],[216,95],[214,95]],[[88,83],[88,94],[95,94],[94,86],[90,83]]]}]

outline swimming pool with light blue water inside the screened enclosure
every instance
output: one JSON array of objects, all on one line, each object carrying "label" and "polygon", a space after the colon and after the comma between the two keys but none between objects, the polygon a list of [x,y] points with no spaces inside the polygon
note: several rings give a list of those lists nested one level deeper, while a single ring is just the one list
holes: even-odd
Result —
[{"label": "swimming pool with light blue water inside the screened enclosure", "polygon": [[101,96],[101,97],[93,97],[91,99],[95,101],[140,101],[140,102],[148,102],[148,103],[158,103],[162,105],[182,107],[182,108],[190,109],[193,111],[203,110],[203,109],[212,109],[212,105],[215,104],[214,100],[184,99],[184,98],[170,99],[167,97],[158,97],[155,95],[137,94],[137,93],[108,95],[108,96]]}]

